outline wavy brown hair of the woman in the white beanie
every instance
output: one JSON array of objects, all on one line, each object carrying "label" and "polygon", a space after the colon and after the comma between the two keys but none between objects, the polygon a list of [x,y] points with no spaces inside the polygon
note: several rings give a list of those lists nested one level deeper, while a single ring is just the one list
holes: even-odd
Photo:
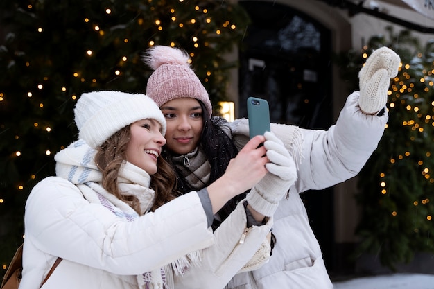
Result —
[{"label": "wavy brown hair of the woman in the white beanie", "polygon": [[[139,200],[133,195],[122,195],[119,191],[118,176],[121,165],[126,161],[127,146],[130,141],[130,125],[125,126],[112,135],[107,141],[96,149],[96,166],[103,173],[103,188],[117,198],[128,203],[132,209],[140,212]],[[151,176],[150,188],[155,191],[155,200],[152,211],[166,202],[176,198],[176,177],[172,167],[162,157],[157,161],[157,173]]]}]

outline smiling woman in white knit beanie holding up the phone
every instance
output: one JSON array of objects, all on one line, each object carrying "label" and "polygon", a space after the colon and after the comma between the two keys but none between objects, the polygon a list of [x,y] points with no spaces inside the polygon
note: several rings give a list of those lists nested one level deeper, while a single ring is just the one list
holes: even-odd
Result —
[{"label": "smiling woman in white knit beanie holding up the phone", "polygon": [[[258,148],[264,137],[252,139],[206,189],[177,196],[173,170],[160,157],[166,122],[153,100],[89,92],[74,112],[78,141],[55,155],[57,176],[38,183],[26,202],[20,289],[42,283],[45,289],[172,289],[174,275],[199,265],[217,265],[224,274],[248,263],[255,251],[236,249],[245,231],[242,214],[234,211],[220,234],[209,227],[227,200],[272,168],[266,146]],[[271,225],[250,232],[245,243],[256,250]],[[214,243],[224,248],[220,254],[206,249]]]}]

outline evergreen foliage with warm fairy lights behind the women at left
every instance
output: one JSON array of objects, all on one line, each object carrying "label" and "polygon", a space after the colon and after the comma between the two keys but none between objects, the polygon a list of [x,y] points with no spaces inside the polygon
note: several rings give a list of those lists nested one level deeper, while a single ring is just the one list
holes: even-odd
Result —
[{"label": "evergreen foliage with warm fairy lights behind the women at left", "polygon": [[[107,10],[110,9],[110,10]],[[76,139],[86,91],[146,91],[153,44],[189,51],[211,102],[227,100],[228,62],[249,23],[229,1],[28,0],[0,3],[0,265],[22,243],[24,204]],[[17,155],[19,152],[19,156]]]}]

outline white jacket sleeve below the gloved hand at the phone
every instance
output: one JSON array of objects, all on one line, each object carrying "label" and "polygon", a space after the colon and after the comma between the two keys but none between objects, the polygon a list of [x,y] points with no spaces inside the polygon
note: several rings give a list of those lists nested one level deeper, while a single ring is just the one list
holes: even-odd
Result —
[{"label": "white jacket sleeve below the gloved hand at the phone", "polygon": [[273,222],[270,218],[265,225],[246,228],[246,221],[243,202],[240,202],[214,232],[214,245],[202,251],[200,267],[175,275],[175,288],[224,288],[261,247]]}]

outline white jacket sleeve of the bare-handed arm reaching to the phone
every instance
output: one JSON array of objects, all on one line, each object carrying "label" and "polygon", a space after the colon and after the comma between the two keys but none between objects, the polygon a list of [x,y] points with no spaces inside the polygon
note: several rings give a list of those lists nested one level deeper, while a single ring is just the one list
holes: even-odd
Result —
[{"label": "white jacket sleeve of the bare-handed arm reaching to the phone", "polygon": [[[29,195],[24,220],[27,245],[48,262],[60,256],[114,274],[161,268],[214,243],[196,192],[128,221],[89,203],[67,180],[49,177]],[[26,262],[31,266],[33,261]]]}]

